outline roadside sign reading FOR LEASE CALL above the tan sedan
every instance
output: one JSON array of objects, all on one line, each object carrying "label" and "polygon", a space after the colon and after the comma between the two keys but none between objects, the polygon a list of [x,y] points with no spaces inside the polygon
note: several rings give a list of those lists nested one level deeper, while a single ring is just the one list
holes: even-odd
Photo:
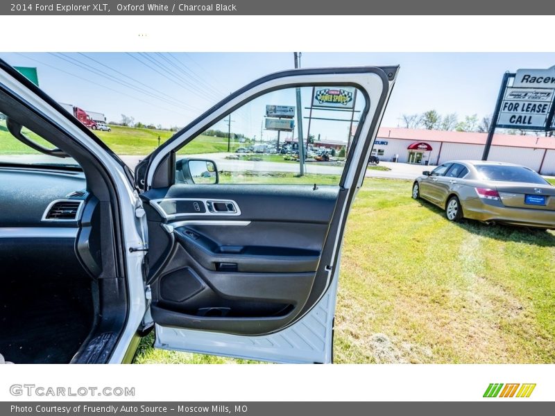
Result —
[{"label": "roadside sign reading FOR LEASE CALL above the tan sedan", "polygon": [[502,87],[496,127],[554,130],[555,67],[519,69],[514,74],[513,85],[506,84]]}]

